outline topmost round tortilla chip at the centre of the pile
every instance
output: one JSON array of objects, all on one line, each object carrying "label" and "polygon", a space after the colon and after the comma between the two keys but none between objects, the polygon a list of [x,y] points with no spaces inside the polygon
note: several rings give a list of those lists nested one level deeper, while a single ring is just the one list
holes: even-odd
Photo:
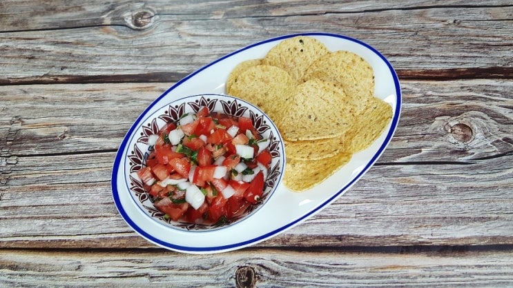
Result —
[{"label": "topmost round tortilla chip at the centre of the pile", "polygon": [[284,109],[276,125],[288,141],[342,136],[354,123],[354,114],[344,98],[332,83],[309,80],[297,86],[289,105],[278,103]]}]

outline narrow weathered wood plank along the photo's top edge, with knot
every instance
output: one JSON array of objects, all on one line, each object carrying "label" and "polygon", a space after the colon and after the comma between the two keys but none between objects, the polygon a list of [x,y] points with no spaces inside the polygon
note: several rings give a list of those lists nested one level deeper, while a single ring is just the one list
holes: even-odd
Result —
[{"label": "narrow weathered wood plank along the photo's top edge, with knot", "polygon": [[[189,20],[231,19],[243,17],[274,16],[284,17],[302,14],[323,13],[361,13],[380,12],[383,10],[426,10],[434,8],[509,8],[507,0],[472,1],[452,0],[443,3],[433,1],[46,1],[45,5],[34,8],[33,1],[5,0],[1,3],[0,32],[23,30],[72,29],[93,25],[125,25],[147,19],[155,21],[161,15],[182,17]],[[319,5],[322,4],[322,5]],[[140,14],[139,11],[153,12]],[[135,17],[136,19],[133,19]],[[29,21],[30,20],[30,21]],[[145,22],[145,23],[146,23]],[[139,27],[141,28],[141,27]]]}]

